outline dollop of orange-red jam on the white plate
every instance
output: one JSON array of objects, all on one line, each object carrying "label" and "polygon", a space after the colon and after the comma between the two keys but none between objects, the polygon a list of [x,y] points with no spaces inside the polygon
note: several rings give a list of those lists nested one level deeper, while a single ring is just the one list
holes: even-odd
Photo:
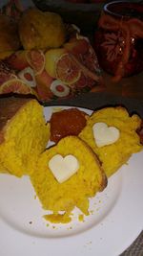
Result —
[{"label": "dollop of orange-red jam on the white plate", "polygon": [[87,114],[77,108],[64,109],[51,115],[51,141],[57,143],[68,135],[77,136],[86,126]]}]

